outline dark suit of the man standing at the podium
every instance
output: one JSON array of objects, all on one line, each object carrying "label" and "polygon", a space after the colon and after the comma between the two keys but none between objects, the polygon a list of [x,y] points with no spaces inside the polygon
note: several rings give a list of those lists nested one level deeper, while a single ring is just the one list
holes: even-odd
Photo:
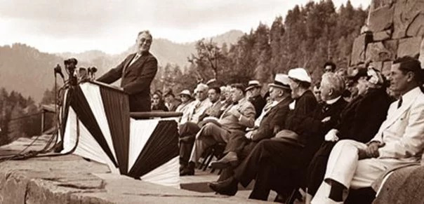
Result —
[{"label": "dark suit of the man standing at the podium", "polygon": [[157,72],[157,60],[147,52],[129,65],[134,56],[135,53],[128,55],[117,67],[100,76],[98,81],[113,83],[121,78],[121,88],[129,95],[130,111],[150,111],[150,83]]}]

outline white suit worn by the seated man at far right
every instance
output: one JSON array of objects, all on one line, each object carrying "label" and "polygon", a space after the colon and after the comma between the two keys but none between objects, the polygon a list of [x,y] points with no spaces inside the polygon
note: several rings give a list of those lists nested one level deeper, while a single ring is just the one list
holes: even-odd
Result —
[{"label": "white suit worn by the seated man at far right", "polygon": [[[366,144],[354,140],[341,140],[331,151],[322,182],[312,203],[331,203],[329,179],[343,184],[347,189],[359,189],[371,184],[390,168],[420,163],[424,149],[424,94],[413,88],[402,96],[402,106],[393,102],[387,118],[370,141],[383,142],[378,158],[358,160],[358,149]],[[347,196],[347,194],[345,195]]]}]

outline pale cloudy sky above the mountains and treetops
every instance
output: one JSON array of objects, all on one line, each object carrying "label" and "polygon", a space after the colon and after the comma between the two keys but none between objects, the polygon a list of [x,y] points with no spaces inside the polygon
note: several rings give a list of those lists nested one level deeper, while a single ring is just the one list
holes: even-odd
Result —
[{"label": "pale cloudy sky above the mountains and treetops", "polygon": [[[0,46],[26,43],[46,53],[102,50],[116,54],[141,30],[176,43],[231,29],[249,32],[259,22],[310,0],[0,0]],[[318,0],[315,0],[318,1]],[[347,0],[333,0],[336,7]],[[371,0],[351,0],[366,8]]]}]

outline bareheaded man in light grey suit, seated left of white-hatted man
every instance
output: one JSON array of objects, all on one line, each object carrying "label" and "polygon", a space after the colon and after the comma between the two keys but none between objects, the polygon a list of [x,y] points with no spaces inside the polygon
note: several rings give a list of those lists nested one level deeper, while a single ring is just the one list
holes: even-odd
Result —
[{"label": "bareheaded man in light grey suit, seated left of white-hatted man", "polygon": [[194,175],[194,165],[208,147],[217,142],[228,142],[230,133],[253,128],[255,108],[245,97],[245,89],[241,83],[231,86],[234,104],[227,107],[218,121],[206,123],[196,135],[196,141],[190,156],[190,163],[181,170],[180,175]]}]

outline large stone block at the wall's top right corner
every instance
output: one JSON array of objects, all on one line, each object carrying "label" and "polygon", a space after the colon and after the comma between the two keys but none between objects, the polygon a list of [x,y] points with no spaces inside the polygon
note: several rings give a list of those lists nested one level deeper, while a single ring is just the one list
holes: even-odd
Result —
[{"label": "large stone block at the wall's top right corner", "polygon": [[420,15],[424,13],[423,0],[397,0],[394,6],[395,11],[393,14],[392,35],[394,39],[401,39],[405,37],[409,29],[411,29],[411,31],[409,31],[409,34],[419,34],[420,32],[423,32],[421,31],[421,27],[424,22],[422,20],[423,17],[420,17]]}]

